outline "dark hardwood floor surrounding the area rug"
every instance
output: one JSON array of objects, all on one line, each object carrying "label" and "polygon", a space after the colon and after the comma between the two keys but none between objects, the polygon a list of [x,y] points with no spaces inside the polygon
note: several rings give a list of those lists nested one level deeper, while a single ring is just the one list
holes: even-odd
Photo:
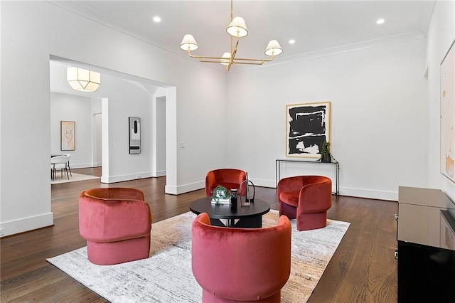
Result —
[{"label": "dark hardwood floor surrounding the area rug", "polygon": [[[101,175],[99,168],[73,171]],[[161,177],[101,186],[144,191],[154,222],[187,212],[191,201],[204,196],[202,189],[168,195],[165,183]],[[78,230],[78,196],[99,186],[99,179],[52,185],[55,225],[0,240],[1,302],[106,302],[45,260],[85,246]],[[256,196],[278,209],[275,188],[259,187]],[[328,218],[351,224],[309,302],[397,302],[395,213],[396,202],[333,196]]]}]

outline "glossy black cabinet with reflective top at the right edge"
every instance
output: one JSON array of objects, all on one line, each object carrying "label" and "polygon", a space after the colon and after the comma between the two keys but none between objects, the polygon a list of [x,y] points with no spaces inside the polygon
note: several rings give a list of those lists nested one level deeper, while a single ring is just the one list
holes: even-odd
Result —
[{"label": "glossy black cabinet with reflective top at the right edge", "polygon": [[398,302],[455,302],[454,216],[441,190],[399,187]]}]

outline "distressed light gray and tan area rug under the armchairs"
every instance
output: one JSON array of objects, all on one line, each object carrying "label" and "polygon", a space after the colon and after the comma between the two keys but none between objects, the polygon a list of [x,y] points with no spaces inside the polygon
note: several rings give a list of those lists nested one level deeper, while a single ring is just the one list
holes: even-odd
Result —
[{"label": "distressed light gray and tan area rug under the armchairs", "polygon": [[[202,289],[191,271],[194,218],[188,212],[154,223],[151,257],[145,260],[94,265],[86,247],[47,260],[110,302],[202,302]],[[278,211],[270,211],[262,225],[276,225],[277,220]],[[301,232],[295,220],[291,225],[291,275],[282,289],[282,302],[306,302],[350,223],[328,220],[326,228]]]}]

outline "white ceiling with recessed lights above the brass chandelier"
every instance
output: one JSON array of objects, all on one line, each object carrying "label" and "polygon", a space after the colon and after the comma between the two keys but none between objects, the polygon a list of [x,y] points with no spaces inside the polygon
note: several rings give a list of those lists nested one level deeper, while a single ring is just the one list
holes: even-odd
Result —
[{"label": "white ceiling with recessed lights above the brass chandelier", "polygon": [[[248,36],[237,57],[267,58],[271,39],[283,48],[277,60],[362,44],[387,43],[426,36],[435,0],[419,1],[245,1],[235,0],[234,16],[245,18]],[[198,55],[230,51],[230,0],[223,1],[50,1],[132,36],[186,55],[181,39],[191,33]],[[154,23],[154,16],[161,23]],[[378,25],[378,18],[385,23]],[[296,42],[291,45],[290,39]],[[388,42],[390,43],[390,42]],[[220,68],[223,68],[220,65]]]}]

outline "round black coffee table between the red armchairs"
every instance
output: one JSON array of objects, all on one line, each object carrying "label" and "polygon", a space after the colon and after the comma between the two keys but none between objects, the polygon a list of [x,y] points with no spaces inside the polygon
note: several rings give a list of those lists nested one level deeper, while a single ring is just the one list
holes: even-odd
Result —
[{"label": "round black coffee table between the red armchairs", "polygon": [[[210,224],[223,226],[220,219],[228,220],[228,227],[236,228],[261,228],[262,215],[270,211],[270,204],[255,198],[250,206],[241,206],[237,201],[237,209],[231,210],[229,204],[213,204],[212,198],[200,198],[190,204],[190,211],[196,213],[208,213]],[[237,220],[237,221],[236,221]]]}]

